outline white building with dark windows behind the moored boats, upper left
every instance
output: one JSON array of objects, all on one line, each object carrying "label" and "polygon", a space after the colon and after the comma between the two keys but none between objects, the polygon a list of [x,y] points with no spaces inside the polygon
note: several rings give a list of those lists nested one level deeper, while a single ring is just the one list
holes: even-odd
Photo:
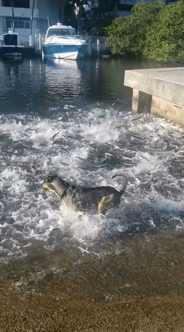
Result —
[{"label": "white building with dark windows behind the moored boats, upper left", "polygon": [[[28,44],[30,35],[30,18],[33,0],[13,0],[15,32],[19,34],[19,42]],[[63,6],[59,0],[35,0],[32,22],[32,35],[45,33],[50,25],[62,19]],[[12,24],[11,0],[0,0],[0,35],[8,32]]]}]

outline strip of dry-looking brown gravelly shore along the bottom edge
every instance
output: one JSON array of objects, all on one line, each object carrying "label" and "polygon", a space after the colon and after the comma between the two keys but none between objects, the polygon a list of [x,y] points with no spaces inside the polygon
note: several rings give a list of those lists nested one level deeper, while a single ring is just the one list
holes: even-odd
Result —
[{"label": "strip of dry-looking brown gravelly shore along the bottom edge", "polygon": [[86,299],[61,285],[21,296],[7,286],[0,296],[0,331],[184,331],[184,297],[125,297],[119,302]]}]

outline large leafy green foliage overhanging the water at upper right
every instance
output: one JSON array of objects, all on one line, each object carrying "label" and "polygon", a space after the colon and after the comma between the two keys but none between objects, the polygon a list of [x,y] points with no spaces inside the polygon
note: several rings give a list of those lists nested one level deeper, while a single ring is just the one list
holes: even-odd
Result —
[{"label": "large leafy green foliage overhanging the water at upper right", "polygon": [[113,54],[184,58],[184,0],[168,6],[162,0],[140,2],[131,16],[116,18],[105,30]]}]

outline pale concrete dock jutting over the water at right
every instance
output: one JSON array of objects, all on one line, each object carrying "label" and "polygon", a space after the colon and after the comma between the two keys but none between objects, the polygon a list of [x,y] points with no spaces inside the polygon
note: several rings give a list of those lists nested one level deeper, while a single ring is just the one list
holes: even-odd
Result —
[{"label": "pale concrete dock jutting over the water at right", "polygon": [[184,126],[184,67],[125,70],[132,111],[149,112]]}]

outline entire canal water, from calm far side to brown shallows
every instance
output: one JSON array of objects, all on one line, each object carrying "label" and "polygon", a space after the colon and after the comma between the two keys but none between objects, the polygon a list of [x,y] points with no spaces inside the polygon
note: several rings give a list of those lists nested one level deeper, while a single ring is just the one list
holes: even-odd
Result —
[{"label": "entire canal water, from calm far side to brown shallows", "polygon": [[[1,286],[57,283],[86,296],[182,292],[183,129],[131,113],[124,70],[149,60],[0,62]],[[173,64],[167,64],[173,66]],[[178,66],[178,64],[176,64]],[[82,220],[53,193],[48,173],[80,186],[121,189],[106,218]]]}]

